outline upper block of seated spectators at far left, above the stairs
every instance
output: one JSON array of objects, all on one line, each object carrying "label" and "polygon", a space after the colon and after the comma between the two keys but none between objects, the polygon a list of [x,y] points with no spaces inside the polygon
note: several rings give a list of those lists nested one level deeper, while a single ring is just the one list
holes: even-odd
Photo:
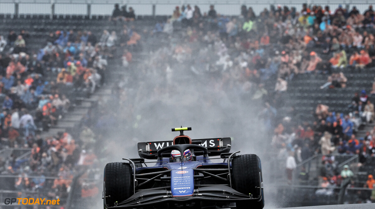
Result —
[{"label": "upper block of seated spectators at far left, above the stairs", "polygon": [[[109,51],[115,50],[113,36],[97,41],[91,31],[51,32],[40,50],[27,47],[31,38],[11,30],[1,39],[1,146],[28,146],[27,137],[48,131],[68,112],[70,99],[90,96],[103,84]],[[9,131],[20,137],[8,140]]]}]

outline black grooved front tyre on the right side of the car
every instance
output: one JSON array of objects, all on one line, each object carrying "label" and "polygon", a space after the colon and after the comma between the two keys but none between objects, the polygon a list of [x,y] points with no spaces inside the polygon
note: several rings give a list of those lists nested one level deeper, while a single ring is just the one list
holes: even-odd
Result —
[{"label": "black grooved front tyre on the right side of the car", "polygon": [[[259,197],[259,172],[262,176],[262,166],[260,158],[254,154],[235,156],[232,160],[232,186],[235,190],[243,194],[252,194],[253,198]],[[237,209],[262,209],[264,207],[263,189],[261,190],[262,200],[259,202],[237,202]]]}]

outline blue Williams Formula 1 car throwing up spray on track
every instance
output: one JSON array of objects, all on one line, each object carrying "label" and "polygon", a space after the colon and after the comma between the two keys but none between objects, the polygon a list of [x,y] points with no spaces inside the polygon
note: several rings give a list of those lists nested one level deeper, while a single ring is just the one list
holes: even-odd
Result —
[{"label": "blue Williams Formula 1 car throwing up spray on track", "polygon": [[[229,153],[231,138],[192,140],[184,135],[186,130],[191,128],[172,128],[180,131],[173,141],[138,143],[141,158],[108,163],[104,208],[208,209],[235,204],[237,209],[262,209],[260,158]],[[223,161],[213,163],[212,159]],[[150,163],[154,165],[147,166]]]}]

